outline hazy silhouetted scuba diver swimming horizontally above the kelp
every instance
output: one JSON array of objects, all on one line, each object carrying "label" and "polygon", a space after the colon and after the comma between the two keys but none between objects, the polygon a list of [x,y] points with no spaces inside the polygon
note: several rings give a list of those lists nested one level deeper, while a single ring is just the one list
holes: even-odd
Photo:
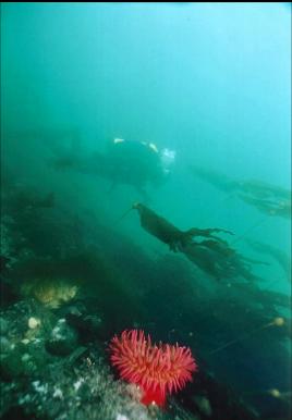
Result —
[{"label": "hazy silhouetted scuba diver swimming horizontally above the kelp", "polygon": [[175,159],[169,149],[158,150],[153,143],[114,138],[101,153],[82,156],[71,151],[54,160],[54,169],[71,169],[92,174],[111,182],[111,189],[118,184],[133,186],[144,198],[146,188],[161,185],[168,177]]}]

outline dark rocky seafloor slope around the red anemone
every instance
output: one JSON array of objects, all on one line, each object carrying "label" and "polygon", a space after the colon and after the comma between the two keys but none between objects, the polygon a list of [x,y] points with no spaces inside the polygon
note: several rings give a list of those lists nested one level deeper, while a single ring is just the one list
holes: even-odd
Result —
[{"label": "dark rocky seafloor slope around the red anemone", "polygon": [[[246,355],[252,355],[246,371],[271,355],[280,373],[287,369],[289,298],[264,294],[256,285],[204,286],[179,257],[153,261],[114,230],[47,206],[27,186],[10,185],[2,193],[2,419],[289,418],[289,387],[282,390],[281,381],[278,386],[277,376],[263,374],[260,383],[256,373],[246,375],[243,365],[236,371],[248,361]],[[279,328],[270,322],[277,317],[284,320]],[[271,328],[263,330],[269,322]],[[238,347],[224,359],[211,356],[210,347],[242,335],[246,325],[261,331],[260,341],[267,339],[271,353],[250,339],[240,342],[242,353]],[[109,341],[131,328],[195,351],[194,381],[169,396],[163,409],[142,405],[139,390],[121,381],[110,365]],[[229,366],[226,379],[221,366]],[[265,387],[264,381],[270,383]],[[251,392],[239,392],[236,383]]]}]

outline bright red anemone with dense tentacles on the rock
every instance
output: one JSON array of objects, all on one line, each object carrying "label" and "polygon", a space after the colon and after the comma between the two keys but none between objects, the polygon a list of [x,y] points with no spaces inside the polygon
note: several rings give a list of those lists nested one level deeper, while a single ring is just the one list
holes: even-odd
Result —
[{"label": "bright red anemone with dense tentacles on the rock", "polygon": [[141,403],[163,407],[167,394],[178,392],[186,382],[197,365],[188,347],[151,343],[143,331],[123,331],[121,336],[111,339],[110,360],[122,379],[143,390]]}]

